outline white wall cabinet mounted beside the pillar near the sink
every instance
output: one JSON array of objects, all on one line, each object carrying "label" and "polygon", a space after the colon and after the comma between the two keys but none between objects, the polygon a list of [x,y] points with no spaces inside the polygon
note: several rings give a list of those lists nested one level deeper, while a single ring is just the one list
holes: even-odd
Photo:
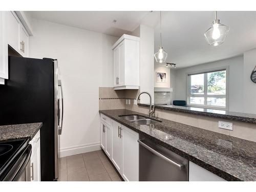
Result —
[{"label": "white wall cabinet mounted beside the pillar near the sink", "polygon": [[139,37],[122,35],[112,46],[114,89],[139,89]]}]

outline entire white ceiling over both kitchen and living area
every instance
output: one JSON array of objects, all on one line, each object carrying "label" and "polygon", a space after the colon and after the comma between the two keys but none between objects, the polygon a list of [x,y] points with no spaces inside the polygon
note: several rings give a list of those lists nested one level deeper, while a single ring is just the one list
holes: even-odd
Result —
[{"label": "entire white ceiling over both kitchen and living area", "polygon": [[[159,47],[159,12],[150,11],[32,11],[36,19],[121,36],[140,24],[155,28],[155,51]],[[163,11],[162,46],[167,62],[183,68],[241,55],[256,48],[256,11],[221,11],[218,17],[229,26],[223,45],[207,45],[204,32],[214,20],[211,11]],[[113,20],[117,23],[114,24]]]}]

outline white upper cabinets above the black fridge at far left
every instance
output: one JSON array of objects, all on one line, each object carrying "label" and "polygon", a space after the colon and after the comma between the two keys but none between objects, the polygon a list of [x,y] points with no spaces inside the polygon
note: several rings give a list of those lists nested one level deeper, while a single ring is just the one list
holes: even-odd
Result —
[{"label": "white upper cabinets above the black fridge at far left", "polygon": [[13,11],[0,11],[0,84],[8,79],[8,45],[28,57],[29,35]]}]

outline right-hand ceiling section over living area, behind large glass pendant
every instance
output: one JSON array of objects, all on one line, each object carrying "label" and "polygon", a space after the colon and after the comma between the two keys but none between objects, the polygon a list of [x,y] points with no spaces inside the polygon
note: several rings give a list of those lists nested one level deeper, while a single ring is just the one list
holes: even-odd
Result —
[{"label": "right-hand ceiling section over living area, behind large glass pendant", "polygon": [[[211,27],[214,12],[162,12],[162,46],[168,53],[167,62],[183,68],[243,54],[256,48],[256,11],[218,12],[221,24],[229,26],[224,43],[209,46],[204,32]],[[155,28],[155,51],[159,48],[159,25]]]}]

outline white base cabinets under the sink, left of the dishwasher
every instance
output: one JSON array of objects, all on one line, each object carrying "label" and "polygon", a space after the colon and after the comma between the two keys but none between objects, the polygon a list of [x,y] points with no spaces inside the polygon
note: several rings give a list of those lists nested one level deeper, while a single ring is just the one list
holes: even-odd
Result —
[{"label": "white base cabinets under the sink, left of the dishwasher", "polygon": [[[102,117],[102,114],[101,114]],[[125,181],[139,181],[139,134],[108,117],[101,120],[101,148]]]}]

